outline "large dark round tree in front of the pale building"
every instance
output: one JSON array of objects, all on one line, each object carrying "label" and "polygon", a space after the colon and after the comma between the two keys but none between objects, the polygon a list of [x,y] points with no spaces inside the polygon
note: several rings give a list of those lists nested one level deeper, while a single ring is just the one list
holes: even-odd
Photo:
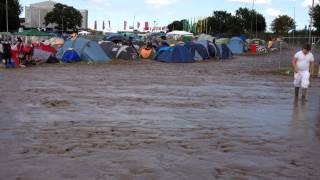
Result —
[{"label": "large dark round tree in front of the pale building", "polygon": [[45,16],[44,20],[46,26],[54,23],[57,25],[57,29],[66,31],[81,27],[82,15],[74,7],[57,3],[54,5],[53,10]]}]

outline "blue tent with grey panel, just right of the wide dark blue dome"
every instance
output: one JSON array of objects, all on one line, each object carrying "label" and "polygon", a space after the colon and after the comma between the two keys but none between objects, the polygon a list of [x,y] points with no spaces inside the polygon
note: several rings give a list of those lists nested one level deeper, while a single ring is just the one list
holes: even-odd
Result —
[{"label": "blue tent with grey panel, just right of the wide dark blue dome", "polygon": [[200,43],[187,42],[184,46],[192,53],[192,56],[196,61],[209,58],[208,50]]}]

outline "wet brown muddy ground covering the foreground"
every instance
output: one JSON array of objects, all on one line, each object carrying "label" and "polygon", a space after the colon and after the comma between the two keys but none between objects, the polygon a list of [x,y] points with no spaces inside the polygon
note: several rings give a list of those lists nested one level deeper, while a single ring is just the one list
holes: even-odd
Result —
[{"label": "wet brown muddy ground covering the foreground", "polygon": [[0,179],[318,180],[320,80],[279,59],[0,69]]}]

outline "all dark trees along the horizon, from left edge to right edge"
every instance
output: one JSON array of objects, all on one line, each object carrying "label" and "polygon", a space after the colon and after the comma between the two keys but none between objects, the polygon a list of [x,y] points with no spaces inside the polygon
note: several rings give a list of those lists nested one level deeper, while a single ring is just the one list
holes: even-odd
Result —
[{"label": "all dark trees along the horizon, from left edge to right edge", "polygon": [[[6,31],[6,1],[0,1],[0,31]],[[8,0],[8,22],[9,30],[16,31],[21,27],[19,15],[22,13],[19,0]],[[309,15],[313,20],[315,33],[320,35],[320,5],[310,8]],[[82,16],[75,8],[63,4],[56,4],[54,9],[45,17],[45,24],[56,24],[56,29],[65,31],[81,27]],[[266,31],[265,17],[255,10],[239,8],[235,15],[227,11],[214,11],[211,16],[195,20],[183,19],[173,21],[168,25],[169,31],[187,30],[194,33],[239,35],[264,33]],[[305,27],[304,33],[310,27]],[[296,29],[296,22],[287,15],[280,15],[271,23],[271,30],[277,35],[286,35]],[[302,34],[301,33],[301,34]]]}]

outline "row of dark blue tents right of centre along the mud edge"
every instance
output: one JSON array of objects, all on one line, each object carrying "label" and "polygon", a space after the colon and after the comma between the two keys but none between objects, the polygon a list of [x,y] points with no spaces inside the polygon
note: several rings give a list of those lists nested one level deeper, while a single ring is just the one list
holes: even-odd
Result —
[{"label": "row of dark blue tents right of centre along the mud edge", "polygon": [[153,59],[160,62],[190,63],[210,58],[230,59],[232,52],[225,44],[203,40],[161,47]]}]

